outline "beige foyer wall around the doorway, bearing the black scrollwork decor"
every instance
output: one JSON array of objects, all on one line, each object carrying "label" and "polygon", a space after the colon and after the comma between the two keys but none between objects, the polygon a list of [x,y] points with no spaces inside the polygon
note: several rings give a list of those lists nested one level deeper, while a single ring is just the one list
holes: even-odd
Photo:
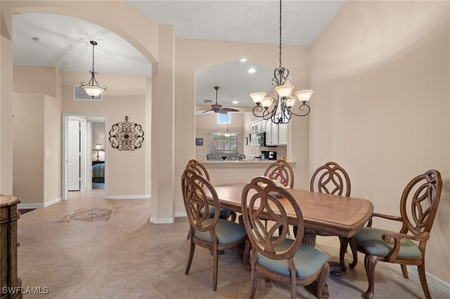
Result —
[{"label": "beige foyer wall around the doorway, bearing the black scrollwork decor", "polygon": [[[146,93],[147,77],[141,75],[98,74],[97,80],[108,86],[103,94],[103,101],[73,100],[73,86],[89,75],[87,73],[63,72],[63,112],[68,114],[107,114],[108,129],[118,122],[125,121],[141,124],[146,128]],[[145,138],[150,138],[149,131],[144,131]],[[94,144],[95,146],[95,144]],[[134,151],[120,151],[111,147],[108,141],[108,157],[106,161],[108,197],[120,195],[142,196],[146,194],[146,156],[150,149],[144,142],[142,147]]]}]

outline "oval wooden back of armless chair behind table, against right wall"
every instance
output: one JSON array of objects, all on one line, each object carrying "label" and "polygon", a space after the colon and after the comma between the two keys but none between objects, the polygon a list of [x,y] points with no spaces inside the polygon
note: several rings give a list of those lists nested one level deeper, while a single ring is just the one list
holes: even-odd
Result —
[{"label": "oval wooden back of armless chair behind table, against right wall", "polygon": [[320,193],[343,194],[346,197],[349,197],[352,191],[347,171],[335,162],[328,162],[314,171],[309,184],[309,190],[314,192],[314,187]]}]

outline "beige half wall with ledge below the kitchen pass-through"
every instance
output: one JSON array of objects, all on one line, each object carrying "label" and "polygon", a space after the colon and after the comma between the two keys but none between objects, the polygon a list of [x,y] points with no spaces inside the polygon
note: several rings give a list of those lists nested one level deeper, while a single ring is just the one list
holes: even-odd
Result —
[{"label": "beige half wall with ledge below the kitchen pass-through", "polygon": [[[210,174],[213,185],[225,184],[229,182],[250,182],[258,175],[264,175],[267,166],[275,160],[266,161],[200,161]],[[295,164],[288,161],[290,165]]]}]

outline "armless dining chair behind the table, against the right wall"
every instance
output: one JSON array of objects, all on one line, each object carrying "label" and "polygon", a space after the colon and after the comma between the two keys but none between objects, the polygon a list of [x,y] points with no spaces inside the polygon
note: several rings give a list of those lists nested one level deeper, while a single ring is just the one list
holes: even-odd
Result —
[{"label": "armless dining chair behind the table, against the right wall", "polygon": [[[344,168],[339,166],[335,162],[328,162],[323,166],[314,171],[311,176],[311,182],[309,184],[309,190],[314,192],[342,195],[345,197],[350,197],[350,192],[352,191],[352,185],[350,184],[350,178]],[[307,229],[306,235],[317,234],[322,237],[337,236],[336,234],[330,234],[328,232],[321,231],[311,231]],[[347,252],[347,246],[349,244],[349,239],[346,237],[339,237],[340,241],[340,251],[339,251],[339,263],[341,271],[347,271],[347,266],[345,265],[345,253]],[[334,272],[333,272],[334,273]],[[339,273],[339,272],[338,272]]]}]

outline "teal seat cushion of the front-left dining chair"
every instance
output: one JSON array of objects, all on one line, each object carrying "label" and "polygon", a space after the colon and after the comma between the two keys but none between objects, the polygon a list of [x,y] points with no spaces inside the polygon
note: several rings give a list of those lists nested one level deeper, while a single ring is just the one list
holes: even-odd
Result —
[{"label": "teal seat cushion of the front-left dining chair", "polygon": [[[203,225],[209,225],[211,222],[212,219],[207,219],[203,221]],[[247,234],[243,225],[224,219],[217,220],[214,229],[216,230],[219,244],[233,243],[234,241],[238,241],[238,239],[245,237]],[[210,231],[200,232],[199,230],[195,230],[194,236],[202,241],[212,242]]]}]

